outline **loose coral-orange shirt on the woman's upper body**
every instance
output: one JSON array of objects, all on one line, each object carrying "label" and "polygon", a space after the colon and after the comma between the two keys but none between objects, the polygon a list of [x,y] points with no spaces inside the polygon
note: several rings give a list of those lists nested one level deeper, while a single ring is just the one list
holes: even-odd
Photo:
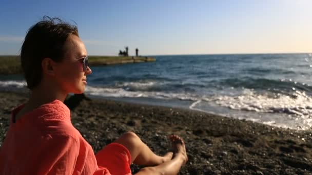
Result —
[{"label": "loose coral-orange shirt on the woman's upper body", "polygon": [[[15,108],[12,116],[23,107]],[[97,164],[60,100],[26,113],[16,123],[12,119],[0,150],[0,174],[110,174]]]}]

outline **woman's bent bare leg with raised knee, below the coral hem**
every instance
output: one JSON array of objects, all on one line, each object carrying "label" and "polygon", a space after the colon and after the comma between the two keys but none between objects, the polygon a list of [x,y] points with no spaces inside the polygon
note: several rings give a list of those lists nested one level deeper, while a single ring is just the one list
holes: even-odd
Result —
[{"label": "woman's bent bare leg with raised knee, below the coral hem", "polygon": [[124,145],[130,152],[131,161],[138,165],[159,165],[171,160],[173,155],[172,152],[168,152],[165,156],[155,155],[139,136],[132,132],[127,132],[114,142]]}]

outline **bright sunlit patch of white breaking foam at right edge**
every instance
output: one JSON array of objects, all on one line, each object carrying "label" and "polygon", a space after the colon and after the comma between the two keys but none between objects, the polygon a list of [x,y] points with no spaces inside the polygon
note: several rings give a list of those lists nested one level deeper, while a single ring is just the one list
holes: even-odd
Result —
[{"label": "bright sunlit patch of white breaking foam at right edge", "polygon": [[253,90],[245,90],[239,96],[214,96],[206,98],[216,104],[232,110],[262,113],[285,113],[296,116],[312,116],[312,98],[304,91],[293,94],[258,94]]}]

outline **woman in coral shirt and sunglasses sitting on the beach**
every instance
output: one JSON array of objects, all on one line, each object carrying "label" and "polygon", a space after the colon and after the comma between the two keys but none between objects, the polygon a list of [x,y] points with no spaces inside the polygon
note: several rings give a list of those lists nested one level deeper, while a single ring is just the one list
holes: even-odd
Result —
[{"label": "woman in coral shirt and sunglasses sitting on the beach", "polygon": [[85,91],[92,72],[76,26],[44,16],[26,34],[21,63],[31,95],[12,111],[0,174],[131,174],[131,163],[149,166],[137,174],[177,174],[186,163],[185,144],[175,135],[173,157],[155,155],[132,132],[94,155],[63,103],[69,93]]}]

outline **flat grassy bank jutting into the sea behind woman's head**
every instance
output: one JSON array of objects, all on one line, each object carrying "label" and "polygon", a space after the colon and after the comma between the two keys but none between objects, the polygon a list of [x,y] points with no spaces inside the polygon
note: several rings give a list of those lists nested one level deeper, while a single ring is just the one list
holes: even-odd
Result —
[{"label": "flat grassy bank jutting into the sea behind woman's head", "polygon": [[[90,66],[155,61],[150,57],[89,56]],[[0,56],[0,74],[22,73],[19,56]]]}]

